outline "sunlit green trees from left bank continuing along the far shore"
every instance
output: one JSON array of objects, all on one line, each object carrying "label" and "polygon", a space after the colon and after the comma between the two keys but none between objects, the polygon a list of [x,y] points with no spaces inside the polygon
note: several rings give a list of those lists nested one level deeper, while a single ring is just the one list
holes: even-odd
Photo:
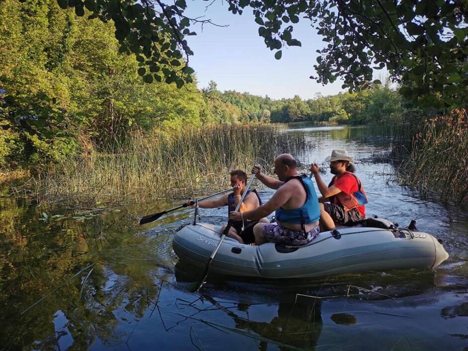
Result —
[{"label": "sunlit green trees from left bank continuing along the far shore", "polygon": [[[114,25],[56,0],[0,1],[0,167],[111,151],[138,129],[154,135],[187,124],[395,119],[401,97],[374,85],[357,93],[273,100],[236,91],[144,83],[145,59],[119,53]],[[165,68],[163,68],[164,70]]]}]

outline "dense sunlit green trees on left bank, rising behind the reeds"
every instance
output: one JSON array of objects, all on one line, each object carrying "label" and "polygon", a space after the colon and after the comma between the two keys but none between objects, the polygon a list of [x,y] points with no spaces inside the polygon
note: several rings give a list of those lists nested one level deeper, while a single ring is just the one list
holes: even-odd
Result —
[{"label": "dense sunlit green trees on left bank, rising behind the reeds", "polygon": [[0,164],[70,157],[78,135],[108,147],[134,127],[201,124],[195,84],[144,83],[137,59],[118,52],[111,22],[55,0],[5,0],[0,23]]}]

